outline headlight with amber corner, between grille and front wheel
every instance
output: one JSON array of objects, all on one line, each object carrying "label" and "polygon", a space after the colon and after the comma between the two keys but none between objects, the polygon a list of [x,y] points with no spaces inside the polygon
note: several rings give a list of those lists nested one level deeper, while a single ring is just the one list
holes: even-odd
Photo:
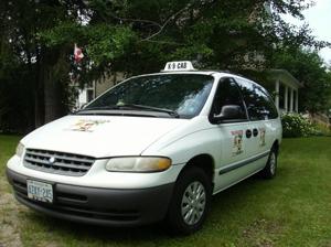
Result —
[{"label": "headlight with amber corner, between grille and front wheel", "polygon": [[106,164],[111,172],[161,172],[170,168],[171,160],[161,157],[113,158]]}]

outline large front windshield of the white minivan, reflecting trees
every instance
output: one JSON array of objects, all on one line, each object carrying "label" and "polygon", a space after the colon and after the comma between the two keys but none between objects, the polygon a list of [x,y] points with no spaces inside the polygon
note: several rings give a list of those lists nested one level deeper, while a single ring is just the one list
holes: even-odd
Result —
[{"label": "large front windshield of the white minivan, reflecting trees", "polygon": [[162,111],[192,118],[201,111],[214,78],[199,74],[163,74],[130,78],[83,109]]}]

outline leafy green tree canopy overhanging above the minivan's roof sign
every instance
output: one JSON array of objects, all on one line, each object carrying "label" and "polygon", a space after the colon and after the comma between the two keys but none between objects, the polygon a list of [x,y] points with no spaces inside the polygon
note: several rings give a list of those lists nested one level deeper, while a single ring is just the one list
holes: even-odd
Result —
[{"label": "leafy green tree canopy overhanging above the minivan's roof sign", "polygon": [[[166,61],[183,58],[197,61],[201,67],[264,68],[274,47],[325,45],[310,35],[307,25],[295,29],[280,18],[282,13],[302,18],[308,7],[302,0],[76,1],[66,8],[79,11],[84,24],[79,18],[58,22],[45,41],[50,45],[79,41],[89,60],[85,72],[96,76],[107,69],[152,72]],[[90,78],[87,74],[84,78]]]}]

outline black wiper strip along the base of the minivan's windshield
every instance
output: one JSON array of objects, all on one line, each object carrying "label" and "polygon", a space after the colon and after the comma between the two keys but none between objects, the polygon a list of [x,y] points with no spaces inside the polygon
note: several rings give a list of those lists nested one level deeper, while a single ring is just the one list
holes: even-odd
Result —
[{"label": "black wiper strip along the base of the minivan's windshield", "polygon": [[90,108],[85,108],[75,111],[74,114],[79,114],[84,111],[93,111],[93,110],[126,110],[126,109],[140,109],[140,110],[148,110],[148,111],[159,111],[159,112],[164,112],[168,114],[174,118],[180,118],[180,115],[170,109],[164,109],[164,108],[158,108],[158,107],[152,107],[152,106],[142,106],[142,105],[136,105],[136,104],[125,104],[125,105],[111,105],[111,106],[100,106],[100,107],[90,107]]}]

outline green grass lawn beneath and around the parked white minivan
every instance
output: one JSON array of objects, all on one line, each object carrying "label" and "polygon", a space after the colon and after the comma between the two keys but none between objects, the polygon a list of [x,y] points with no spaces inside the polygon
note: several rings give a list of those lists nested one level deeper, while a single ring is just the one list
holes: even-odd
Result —
[{"label": "green grass lawn beneath and around the parked white minivan", "polygon": [[19,205],[4,179],[19,138],[0,136],[0,246],[331,247],[331,138],[286,139],[278,175],[220,193],[203,229],[174,237],[161,224],[129,229],[67,223]]}]

